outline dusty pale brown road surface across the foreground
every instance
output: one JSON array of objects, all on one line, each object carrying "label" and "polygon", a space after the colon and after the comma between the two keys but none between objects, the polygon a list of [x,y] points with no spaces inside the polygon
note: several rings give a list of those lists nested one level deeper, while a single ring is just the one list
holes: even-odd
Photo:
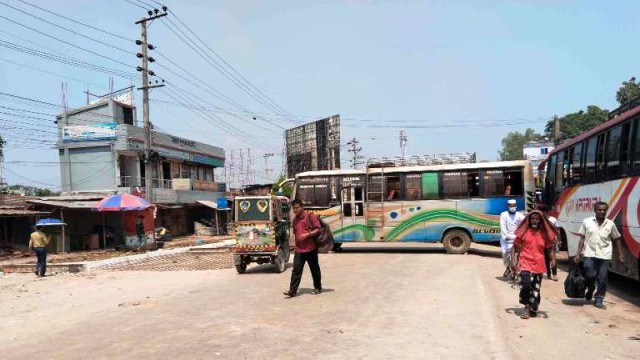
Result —
[{"label": "dusty pale brown road surface across the foreground", "polygon": [[[491,251],[347,247],[320,256],[326,291],[284,299],[290,269],[0,277],[3,359],[637,359],[640,285],[607,310],[545,280],[540,317]],[[565,273],[561,273],[564,278]],[[626,289],[626,290],[625,290]]]}]

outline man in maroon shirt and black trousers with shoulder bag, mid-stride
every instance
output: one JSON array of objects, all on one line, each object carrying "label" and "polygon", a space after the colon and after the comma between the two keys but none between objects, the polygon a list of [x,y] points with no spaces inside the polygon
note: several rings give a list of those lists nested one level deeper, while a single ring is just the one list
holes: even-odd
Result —
[{"label": "man in maroon shirt and black trousers with shoulder bag, mid-stride", "polygon": [[318,248],[315,242],[315,237],[321,232],[320,220],[315,215],[308,213],[299,199],[293,200],[291,207],[294,213],[293,233],[296,238],[296,254],[293,257],[291,285],[289,291],[285,291],[284,295],[296,296],[306,262],[309,263],[313,277],[313,294],[317,295],[322,292],[322,276],[318,263]]}]

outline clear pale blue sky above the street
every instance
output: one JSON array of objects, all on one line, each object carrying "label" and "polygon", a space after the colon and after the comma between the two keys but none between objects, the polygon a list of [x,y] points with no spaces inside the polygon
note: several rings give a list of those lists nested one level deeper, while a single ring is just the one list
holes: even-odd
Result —
[{"label": "clear pale blue sky above the street", "polygon": [[[134,23],[153,1],[25,1],[119,37],[19,0],[0,0],[0,92],[60,105],[65,83],[72,108],[86,103],[87,88],[108,92],[110,75],[34,56],[33,49],[136,73],[140,27]],[[349,166],[346,143],[354,137],[365,158],[399,156],[402,129],[408,155],[475,151],[479,159],[495,160],[508,132],[543,131],[554,115],[592,104],[613,109],[620,83],[640,75],[640,50],[633,46],[640,35],[637,1],[165,4],[167,20],[149,28],[157,49],[150,52],[157,60],[151,69],[167,84],[151,93],[151,121],[227,154],[251,148],[255,182],[273,180],[264,176],[266,153],[276,154],[268,160],[272,173],[281,172],[283,129],[303,122],[340,114],[343,167]],[[178,38],[170,28],[198,41],[180,21],[219,57],[209,52],[203,58],[186,45],[189,40]],[[18,52],[7,42],[32,50]],[[139,85],[127,76],[113,77],[115,89],[132,81]],[[142,119],[140,92],[135,96]],[[59,188],[51,115],[60,108],[7,96],[0,96],[0,106],[7,181]]]}]

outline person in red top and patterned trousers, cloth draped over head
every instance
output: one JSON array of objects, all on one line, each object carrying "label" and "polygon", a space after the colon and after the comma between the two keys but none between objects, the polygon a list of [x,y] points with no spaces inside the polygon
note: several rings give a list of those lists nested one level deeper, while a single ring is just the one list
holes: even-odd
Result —
[{"label": "person in red top and patterned trousers, cloth draped over head", "polygon": [[520,304],[524,311],[520,316],[528,319],[538,314],[542,276],[546,271],[545,253],[549,254],[551,266],[555,266],[556,240],[554,226],[538,210],[530,212],[515,231],[516,239],[511,249],[513,269],[520,267]]}]

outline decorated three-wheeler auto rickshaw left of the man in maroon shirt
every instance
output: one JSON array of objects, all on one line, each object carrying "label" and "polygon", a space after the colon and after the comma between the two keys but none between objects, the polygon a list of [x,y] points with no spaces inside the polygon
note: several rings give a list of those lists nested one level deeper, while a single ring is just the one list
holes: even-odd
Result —
[{"label": "decorated three-wheeler auto rickshaw left of the man in maroon shirt", "polygon": [[250,263],[274,264],[281,273],[291,256],[289,200],[284,196],[238,196],[234,201],[236,246],[233,260],[239,274]]}]

